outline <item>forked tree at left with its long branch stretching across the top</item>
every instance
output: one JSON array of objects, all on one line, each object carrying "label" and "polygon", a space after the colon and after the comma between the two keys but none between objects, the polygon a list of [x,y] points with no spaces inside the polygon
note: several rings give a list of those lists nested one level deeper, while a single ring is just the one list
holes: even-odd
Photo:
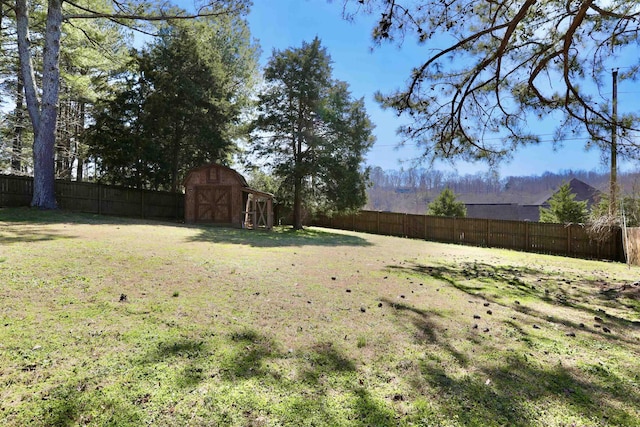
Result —
[{"label": "forked tree at left with its long branch stretching across the top", "polygon": [[[7,5],[8,3],[3,3]],[[63,8],[64,6],[64,8]],[[60,95],[60,47],[63,22],[83,19],[108,19],[111,22],[136,26],[137,23],[192,19],[199,16],[237,16],[245,13],[245,0],[211,0],[198,5],[195,13],[176,9],[170,3],[152,1],[73,4],[62,0],[48,0],[45,30],[41,45],[42,73],[37,76],[31,38],[34,21],[30,19],[27,0],[15,0],[17,46],[20,73],[24,84],[25,103],[34,129],[33,198],[32,206],[52,209],[57,206],[54,191],[55,138]],[[36,44],[34,43],[34,44]]]}]

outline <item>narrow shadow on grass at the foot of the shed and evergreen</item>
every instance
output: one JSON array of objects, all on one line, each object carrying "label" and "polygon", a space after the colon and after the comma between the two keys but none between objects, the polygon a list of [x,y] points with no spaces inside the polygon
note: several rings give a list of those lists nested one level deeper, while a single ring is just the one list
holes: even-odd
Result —
[{"label": "narrow shadow on grass at the foot of the shed and evergreen", "polygon": [[190,239],[197,242],[231,243],[254,247],[287,246],[371,246],[366,239],[341,233],[331,233],[313,228],[293,230],[275,227],[271,231],[244,230],[223,227],[196,226],[200,233]]}]

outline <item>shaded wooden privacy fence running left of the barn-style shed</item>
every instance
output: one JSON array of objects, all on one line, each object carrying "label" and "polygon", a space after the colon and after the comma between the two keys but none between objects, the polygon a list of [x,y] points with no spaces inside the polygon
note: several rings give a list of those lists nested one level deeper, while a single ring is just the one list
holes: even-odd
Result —
[{"label": "shaded wooden privacy fence running left of the barn-style shed", "polygon": [[[62,180],[55,185],[62,209],[133,218],[184,218],[184,194]],[[0,206],[29,206],[32,195],[33,178],[0,175]]]}]

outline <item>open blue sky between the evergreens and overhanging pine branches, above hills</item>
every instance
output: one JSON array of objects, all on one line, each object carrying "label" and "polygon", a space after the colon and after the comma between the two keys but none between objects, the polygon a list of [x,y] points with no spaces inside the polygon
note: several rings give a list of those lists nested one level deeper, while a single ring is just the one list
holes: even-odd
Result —
[{"label": "open blue sky between the evergreens and overhanging pine branches, above hills", "polygon": [[[316,36],[321,39],[333,60],[334,77],[346,81],[354,97],[364,97],[367,112],[376,125],[377,142],[367,156],[369,165],[406,169],[410,167],[406,161],[419,157],[420,152],[411,144],[395,148],[400,142],[395,130],[403,119],[392,111],[382,110],[373,95],[378,90],[388,93],[401,88],[411,68],[426,57],[426,47],[411,43],[400,48],[374,47],[370,36],[373,18],[360,15],[355,22],[343,20],[342,0],[254,0],[248,21],[253,37],[260,42],[263,65],[274,49],[299,47],[303,41],[311,41]],[[621,98],[625,90],[630,90],[625,84],[630,83],[619,83]],[[541,135],[547,135],[549,142],[518,150],[512,161],[499,166],[500,175],[539,175],[566,169],[608,171],[600,152],[585,152],[584,140],[567,141],[564,147],[554,150],[550,142],[552,131],[541,129]],[[438,169],[455,169],[460,174],[488,170],[482,164],[464,163],[442,164]]]}]

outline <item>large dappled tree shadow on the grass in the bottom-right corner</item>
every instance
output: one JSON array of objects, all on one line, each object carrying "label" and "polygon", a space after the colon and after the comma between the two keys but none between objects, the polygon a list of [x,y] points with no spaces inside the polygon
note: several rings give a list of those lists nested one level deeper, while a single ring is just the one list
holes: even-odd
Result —
[{"label": "large dappled tree shadow on the grass in the bottom-right corner", "polygon": [[[431,320],[432,314],[406,304],[385,302],[395,309],[394,314],[400,324],[412,324],[417,331],[416,336],[428,338],[424,344],[428,346],[431,357],[417,362],[418,375],[413,371],[406,377],[416,393],[421,390],[433,393],[432,403],[438,407],[443,419],[455,419],[456,425],[465,426],[541,425],[540,414],[532,408],[550,402],[565,408],[562,411],[569,409],[567,417],[572,415],[571,411],[575,411],[576,416],[591,414],[591,419],[598,425],[639,424],[635,414],[620,405],[631,402],[629,406],[637,407],[640,404],[638,389],[633,381],[609,371],[606,365],[588,368],[589,372],[564,367],[561,362],[546,368],[515,352],[512,356],[506,352],[507,356],[504,356],[504,348],[491,348],[490,342],[474,340],[475,335],[469,333],[467,340],[474,342],[478,349],[482,348],[483,354],[496,355],[486,363],[473,362],[457,351],[442,331],[438,331]],[[528,334],[516,323],[508,322],[519,330],[521,341],[527,341]],[[434,352],[434,345],[439,350]],[[448,365],[442,358],[435,357],[440,351],[451,356],[457,367],[447,369]],[[467,373],[462,376],[449,373],[458,371],[458,367]],[[528,401],[537,403],[530,406]]]}]

